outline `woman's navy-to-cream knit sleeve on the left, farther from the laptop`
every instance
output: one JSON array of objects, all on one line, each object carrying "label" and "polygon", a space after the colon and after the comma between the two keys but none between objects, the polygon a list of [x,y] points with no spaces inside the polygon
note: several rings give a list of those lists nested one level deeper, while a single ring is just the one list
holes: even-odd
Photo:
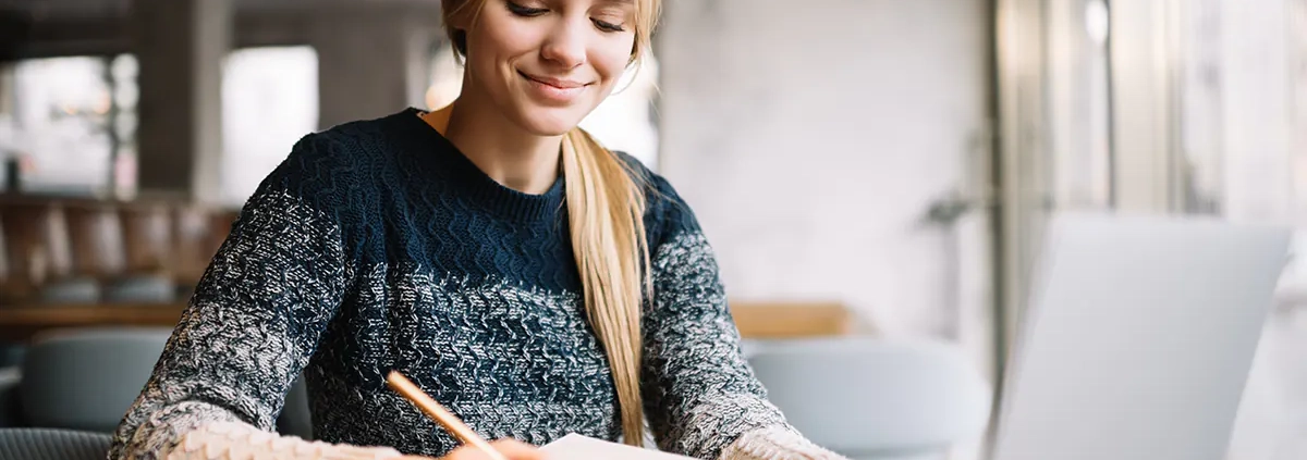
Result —
[{"label": "woman's navy-to-cream knit sleeve on the left, farther from the laptop", "polygon": [[352,278],[333,217],[341,203],[331,196],[339,169],[324,144],[297,142],[242,208],[114,434],[110,459],[260,452],[252,442],[272,430]]}]

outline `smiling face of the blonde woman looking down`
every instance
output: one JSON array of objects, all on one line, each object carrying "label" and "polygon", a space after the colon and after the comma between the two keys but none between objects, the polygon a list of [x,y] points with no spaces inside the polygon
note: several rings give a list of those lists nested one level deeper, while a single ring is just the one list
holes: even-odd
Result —
[{"label": "smiling face of the blonde woman looking down", "polygon": [[460,98],[533,135],[563,135],[631,61],[635,13],[634,0],[484,0],[472,20],[451,24],[465,37]]}]

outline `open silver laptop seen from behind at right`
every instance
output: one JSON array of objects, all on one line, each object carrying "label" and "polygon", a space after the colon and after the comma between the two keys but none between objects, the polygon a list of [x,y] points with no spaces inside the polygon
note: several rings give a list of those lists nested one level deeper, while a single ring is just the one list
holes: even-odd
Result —
[{"label": "open silver laptop seen from behind at right", "polygon": [[1057,217],[993,459],[1223,459],[1289,238],[1214,221]]}]

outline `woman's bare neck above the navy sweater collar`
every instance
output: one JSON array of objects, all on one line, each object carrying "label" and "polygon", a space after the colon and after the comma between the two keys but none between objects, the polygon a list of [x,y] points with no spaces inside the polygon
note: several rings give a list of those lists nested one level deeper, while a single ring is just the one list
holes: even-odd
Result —
[{"label": "woman's bare neck above the navy sweater collar", "polygon": [[562,136],[532,135],[489,105],[465,103],[461,97],[425,119],[505,187],[540,195],[558,179]]}]

